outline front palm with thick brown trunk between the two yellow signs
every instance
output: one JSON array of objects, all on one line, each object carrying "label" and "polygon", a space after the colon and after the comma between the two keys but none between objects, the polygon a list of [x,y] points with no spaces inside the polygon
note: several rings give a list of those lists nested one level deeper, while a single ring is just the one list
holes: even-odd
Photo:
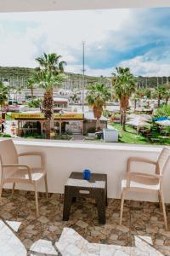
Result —
[{"label": "front palm with thick brown trunk between the two yellow signs", "polygon": [[46,138],[50,139],[51,119],[54,119],[54,99],[51,90],[54,87],[59,87],[59,84],[64,80],[62,74],[54,75],[48,70],[40,70],[37,73],[36,81],[39,87],[45,90],[42,100],[42,112],[45,117]]}]

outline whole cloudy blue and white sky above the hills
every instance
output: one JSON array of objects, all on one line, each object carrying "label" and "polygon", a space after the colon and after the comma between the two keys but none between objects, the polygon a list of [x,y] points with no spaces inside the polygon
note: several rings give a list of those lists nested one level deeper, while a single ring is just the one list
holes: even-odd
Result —
[{"label": "whole cloudy blue and white sky above the hills", "polygon": [[56,52],[66,70],[109,76],[115,67],[133,74],[170,75],[170,9],[110,9],[0,15],[0,66],[37,67]]}]

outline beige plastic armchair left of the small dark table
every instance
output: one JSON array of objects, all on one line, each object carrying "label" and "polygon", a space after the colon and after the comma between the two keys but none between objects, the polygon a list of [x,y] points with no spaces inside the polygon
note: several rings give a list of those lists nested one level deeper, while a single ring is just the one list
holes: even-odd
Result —
[{"label": "beige plastic armchair left of the small dark table", "polygon": [[[19,158],[23,156],[37,156],[41,158],[41,166],[32,168],[28,165],[19,164]],[[39,216],[37,183],[44,177],[46,196],[48,199],[47,172],[45,170],[45,158],[42,152],[26,152],[17,154],[12,139],[0,142],[0,199],[2,197],[4,183],[13,183],[12,194],[14,194],[15,183],[30,183],[35,190],[37,217]]]}]

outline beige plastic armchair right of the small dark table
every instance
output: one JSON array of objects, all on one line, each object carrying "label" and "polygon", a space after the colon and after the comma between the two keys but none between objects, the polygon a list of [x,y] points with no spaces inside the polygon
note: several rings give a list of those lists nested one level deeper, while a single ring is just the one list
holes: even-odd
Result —
[{"label": "beige plastic armchair right of the small dark table", "polygon": [[[122,212],[123,204],[125,200],[125,195],[127,192],[146,192],[151,194],[157,194],[160,202],[160,207],[162,207],[163,217],[165,222],[165,228],[167,230],[167,214],[164,203],[162,179],[164,172],[167,167],[168,160],[170,159],[170,149],[163,148],[161,154],[156,161],[139,158],[130,157],[127,160],[127,174],[122,180],[122,196],[121,196],[121,212],[120,212],[120,224],[122,224]],[[154,165],[155,174],[149,174],[148,172],[132,172],[131,163],[132,162],[143,162],[150,165]]]}]

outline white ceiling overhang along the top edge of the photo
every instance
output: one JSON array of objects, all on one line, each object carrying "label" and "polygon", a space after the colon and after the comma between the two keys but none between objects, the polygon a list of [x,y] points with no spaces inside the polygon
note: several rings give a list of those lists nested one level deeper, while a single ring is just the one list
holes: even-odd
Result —
[{"label": "white ceiling overhang along the top edge of the photo", "polygon": [[0,0],[1,12],[170,7],[170,0]]}]

